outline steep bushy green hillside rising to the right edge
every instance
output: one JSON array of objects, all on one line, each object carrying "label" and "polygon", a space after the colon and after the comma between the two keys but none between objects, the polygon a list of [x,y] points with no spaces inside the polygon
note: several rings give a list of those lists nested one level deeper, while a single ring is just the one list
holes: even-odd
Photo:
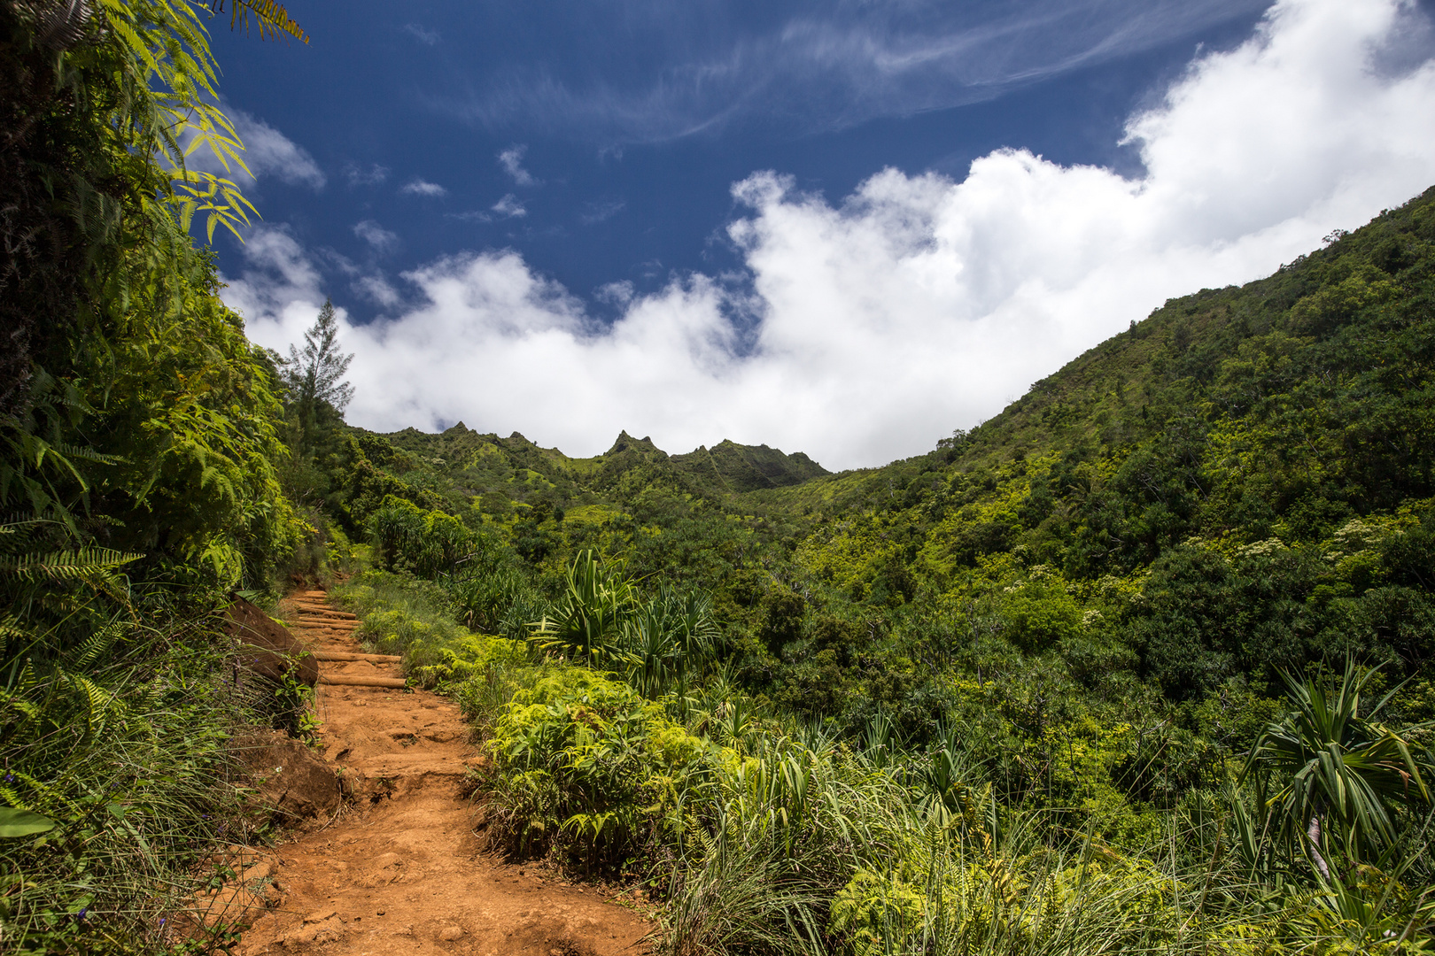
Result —
[{"label": "steep bushy green hillside rising to the right edge", "polygon": [[738,506],[796,520],[798,573],[838,602],[967,602],[966,626],[986,608],[1027,654],[1174,698],[1346,654],[1419,672],[1432,241],[1435,191],[1266,279],[1168,301],[926,456]]}]

